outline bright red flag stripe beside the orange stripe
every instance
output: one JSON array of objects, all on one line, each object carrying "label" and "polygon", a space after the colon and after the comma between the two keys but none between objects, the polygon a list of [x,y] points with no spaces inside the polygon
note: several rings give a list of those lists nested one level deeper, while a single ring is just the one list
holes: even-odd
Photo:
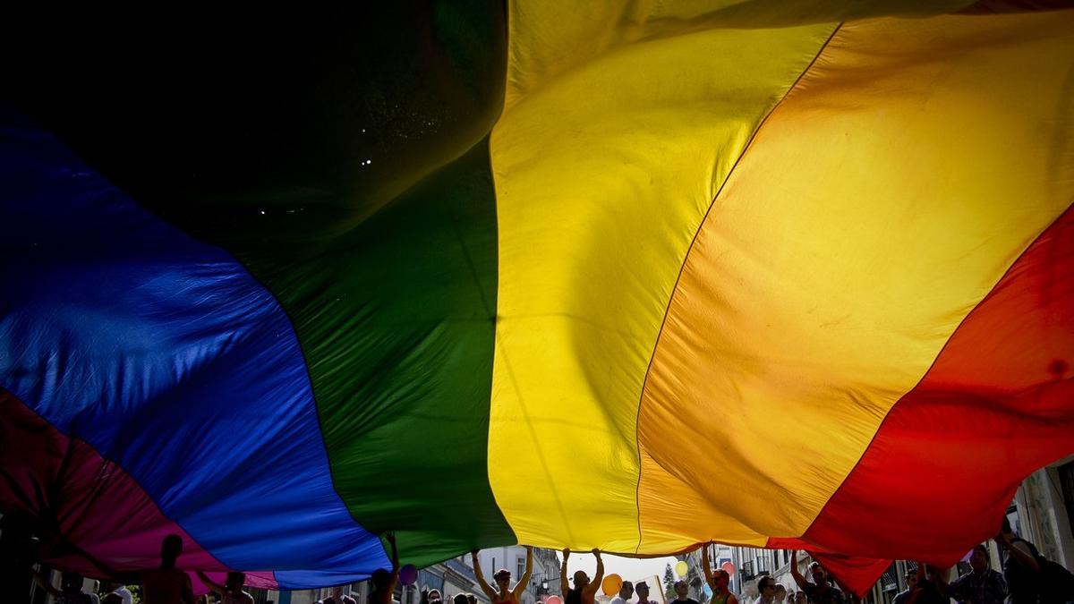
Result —
[{"label": "bright red flag stripe beside the orange stripe", "polygon": [[[866,558],[954,563],[997,532],[1026,476],[1074,451],[1072,364],[1074,212],[1068,208],[891,408],[801,543]],[[860,585],[865,572],[841,578]]]}]

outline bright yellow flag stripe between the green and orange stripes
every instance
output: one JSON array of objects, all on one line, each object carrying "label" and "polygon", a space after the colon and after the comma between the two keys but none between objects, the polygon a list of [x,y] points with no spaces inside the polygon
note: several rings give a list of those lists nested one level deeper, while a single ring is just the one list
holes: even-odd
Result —
[{"label": "bright yellow flag stripe between the green and orange stripes", "polygon": [[[547,6],[511,4],[511,90],[491,142],[490,481],[522,543],[633,551],[638,401],[676,276],[756,124],[834,25],[686,20],[672,35],[661,20],[654,39],[643,23]],[[534,34],[558,28],[584,32],[580,48],[616,42],[579,63],[557,54],[562,35]],[[540,77],[521,67],[535,61]]]}]

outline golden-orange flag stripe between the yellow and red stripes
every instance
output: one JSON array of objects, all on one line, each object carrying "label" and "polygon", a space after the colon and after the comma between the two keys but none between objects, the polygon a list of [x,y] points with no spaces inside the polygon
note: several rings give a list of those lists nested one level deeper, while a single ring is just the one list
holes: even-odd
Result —
[{"label": "golden-orange flag stripe between the yellow and red stripes", "polygon": [[676,290],[639,419],[642,552],[806,531],[1074,199],[1072,31],[1065,12],[834,37],[729,177]]}]

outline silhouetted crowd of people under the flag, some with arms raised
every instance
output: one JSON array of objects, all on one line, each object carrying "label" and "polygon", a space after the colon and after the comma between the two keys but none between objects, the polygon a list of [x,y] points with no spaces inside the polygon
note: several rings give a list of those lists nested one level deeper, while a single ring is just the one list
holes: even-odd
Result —
[{"label": "silhouetted crowd of people under the flag, some with arms raised", "polygon": [[[398,550],[395,535],[386,533],[391,550],[391,570],[378,569],[371,578],[372,590],[367,604],[393,604],[393,594],[400,576]],[[996,536],[996,543],[1003,553],[1002,572],[990,567],[988,549],[984,544],[974,547],[969,557],[970,572],[949,580],[950,570],[939,569],[918,562],[915,570],[906,573],[908,589],[898,593],[891,604],[1074,604],[1074,575],[1059,564],[1041,556],[1036,547],[1018,537],[1006,519]],[[161,544],[161,562],[157,569],[108,575],[118,581],[100,586],[103,592],[83,591],[83,577],[77,573],[64,572],[60,587],[50,585],[43,576],[34,578],[42,589],[55,598],[57,604],[132,604],[132,595],[125,585],[141,585],[142,604],[209,604],[207,595],[195,598],[190,575],[180,570],[176,562],[183,552],[183,541],[177,535],[169,535]],[[526,547],[525,572],[519,580],[511,581],[511,572],[499,569],[492,575],[491,585],[484,577],[477,551],[471,552],[474,574],[481,590],[492,604],[521,604],[522,594],[529,585],[533,573],[533,548]],[[595,604],[597,590],[605,575],[604,560],[598,549],[596,573],[591,579],[585,571],[576,571],[568,583],[567,563],[570,550],[563,550],[563,565],[560,585],[563,586],[564,604]],[[713,571],[708,548],[701,548],[701,565],[705,580],[711,589],[707,604],[740,604],[739,598],[729,590],[730,575],[723,569]],[[853,604],[857,599],[847,596],[839,588],[818,562],[808,567],[809,577],[798,569],[797,551],[790,555],[790,575],[795,586],[780,585],[770,576],[757,580],[758,595],[749,604]],[[220,604],[255,604],[253,598],[244,591],[246,576],[243,573],[228,573],[223,584],[198,572],[201,583],[216,594]],[[797,589],[793,589],[797,587]],[[701,604],[690,596],[690,586],[679,580],[673,586],[676,598],[668,604]],[[101,593],[99,595],[99,593]],[[635,600],[636,598],[636,600]],[[422,593],[422,604],[446,604],[445,595],[433,589]],[[343,587],[333,588],[332,594],[319,604],[359,604],[344,593]],[[473,593],[458,593],[451,604],[477,604]],[[650,598],[650,587],[645,581],[634,585],[623,581],[619,593],[609,604],[658,604]]]}]

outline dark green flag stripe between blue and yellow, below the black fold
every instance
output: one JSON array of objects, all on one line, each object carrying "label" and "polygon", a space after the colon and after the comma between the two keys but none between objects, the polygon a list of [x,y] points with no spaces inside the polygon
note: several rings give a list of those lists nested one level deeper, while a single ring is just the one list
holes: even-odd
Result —
[{"label": "dark green flag stripe between blue and yellow, below the black fold", "polygon": [[[336,489],[432,563],[514,543],[488,480],[496,215],[488,141],[317,258],[246,259],[294,322]],[[270,276],[272,275],[272,276]]]}]

